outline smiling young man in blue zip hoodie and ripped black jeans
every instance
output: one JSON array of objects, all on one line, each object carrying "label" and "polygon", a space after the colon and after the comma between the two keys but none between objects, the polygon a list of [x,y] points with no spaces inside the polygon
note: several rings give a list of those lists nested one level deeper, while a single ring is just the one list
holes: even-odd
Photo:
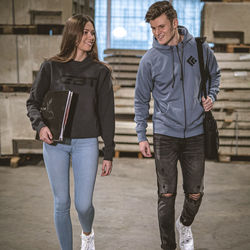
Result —
[{"label": "smiling young man in blue zip hoodie and ripped black jeans", "polygon": [[135,88],[135,121],[143,156],[151,157],[146,137],[149,102],[154,99],[154,153],[158,183],[158,218],[162,249],[176,249],[175,197],[177,161],[185,192],[184,206],[176,221],[182,250],[194,249],[191,224],[203,196],[204,111],[212,109],[219,92],[220,71],[213,52],[203,44],[210,73],[208,97],[200,92],[201,75],[195,38],[178,26],[168,1],[156,2],[146,14],[153,32],[153,47],[143,56]]}]

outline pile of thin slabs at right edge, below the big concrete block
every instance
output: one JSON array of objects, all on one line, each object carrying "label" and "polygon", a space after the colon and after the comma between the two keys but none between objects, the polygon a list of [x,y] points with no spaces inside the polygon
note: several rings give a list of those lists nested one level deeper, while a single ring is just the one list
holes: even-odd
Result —
[{"label": "pile of thin slabs at right edge, below the big concrete block", "polygon": [[250,156],[250,54],[217,53],[221,91],[215,103],[220,160]]}]

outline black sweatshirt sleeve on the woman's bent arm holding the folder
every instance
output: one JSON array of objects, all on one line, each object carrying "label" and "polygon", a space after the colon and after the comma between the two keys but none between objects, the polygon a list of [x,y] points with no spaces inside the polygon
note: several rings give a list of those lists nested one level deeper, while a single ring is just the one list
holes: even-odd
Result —
[{"label": "black sweatshirt sleeve on the woman's bent arm holding the folder", "polygon": [[30,118],[32,128],[38,133],[45,127],[40,113],[43,97],[50,87],[50,65],[47,61],[42,63],[35,81],[31,87],[30,96],[26,101],[27,116]]}]

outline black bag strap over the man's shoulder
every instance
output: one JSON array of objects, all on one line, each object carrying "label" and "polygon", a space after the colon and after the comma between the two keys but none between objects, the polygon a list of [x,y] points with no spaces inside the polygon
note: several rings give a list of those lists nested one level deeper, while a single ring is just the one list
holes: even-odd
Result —
[{"label": "black bag strap over the man's shoulder", "polygon": [[204,57],[203,57],[203,49],[202,44],[205,42],[206,37],[196,37],[196,46],[198,51],[198,58],[199,58],[199,66],[200,66],[200,72],[201,72],[201,89],[203,90],[205,98],[207,98],[207,88],[206,88],[206,72],[204,67]]}]

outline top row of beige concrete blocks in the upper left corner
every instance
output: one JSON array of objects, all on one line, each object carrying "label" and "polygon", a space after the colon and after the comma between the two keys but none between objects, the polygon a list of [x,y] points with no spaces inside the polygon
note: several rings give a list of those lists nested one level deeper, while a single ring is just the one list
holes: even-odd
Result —
[{"label": "top row of beige concrete blocks in the upper left corner", "polygon": [[[12,1],[0,1],[0,24],[13,24]],[[15,24],[30,24],[30,10],[62,11],[58,24],[72,15],[71,0],[15,0]]]}]

